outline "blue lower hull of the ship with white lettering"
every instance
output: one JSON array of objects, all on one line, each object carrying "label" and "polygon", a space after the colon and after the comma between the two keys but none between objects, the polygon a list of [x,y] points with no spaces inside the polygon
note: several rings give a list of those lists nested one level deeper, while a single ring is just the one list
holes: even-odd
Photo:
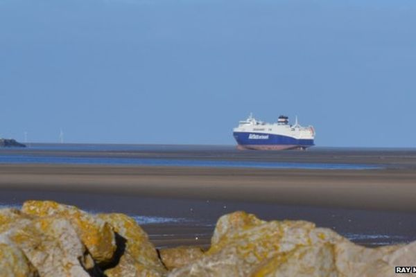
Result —
[{"label": "blue lower hull of the ship with white lettering", "polygon": [[240,148],[248,149],[293,149],[309,148],[315,143],[313,139],[294,139],[290,136],[278,134],[262,134],[254,132],[234,132],[234,139]]}]

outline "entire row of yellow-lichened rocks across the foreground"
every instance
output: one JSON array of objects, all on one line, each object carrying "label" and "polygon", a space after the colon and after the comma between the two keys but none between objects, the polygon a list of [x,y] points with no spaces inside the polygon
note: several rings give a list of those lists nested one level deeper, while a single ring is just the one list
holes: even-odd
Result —
[{"label": "entire row of yellow-lichened rocks across the foreground", "polygon": [[304,221],[236,212],[211,247],[161,249],[132,218],[56,202],[0,210],[0,276],[396,276],[416,265],[416,242],[369,249]]}]

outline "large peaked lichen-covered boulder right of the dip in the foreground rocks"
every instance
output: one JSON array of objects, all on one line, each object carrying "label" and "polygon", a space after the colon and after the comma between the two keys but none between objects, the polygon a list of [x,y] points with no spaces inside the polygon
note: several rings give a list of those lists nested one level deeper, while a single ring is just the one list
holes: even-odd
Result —
[{"label": "large peaked lichen-covered boulder right of the dip in the foreground rocks", "polygon": [[343,240],[331,230],[315,228],[311,222],[264,222],[236,212],[220,217],[211,248],[202,259],[174,269],[169,276],[252,276],[271,259],[288,260],[300,247]]}]

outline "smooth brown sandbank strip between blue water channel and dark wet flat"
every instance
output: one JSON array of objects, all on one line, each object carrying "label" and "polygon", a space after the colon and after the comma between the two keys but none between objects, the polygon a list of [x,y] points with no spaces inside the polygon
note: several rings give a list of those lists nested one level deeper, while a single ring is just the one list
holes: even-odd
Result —
[{"label": "smooth brown sandbank strip between blue water channel and dark wet flat", "polygon": [[0,165],[0,189],[416,212],[416,170]]}]

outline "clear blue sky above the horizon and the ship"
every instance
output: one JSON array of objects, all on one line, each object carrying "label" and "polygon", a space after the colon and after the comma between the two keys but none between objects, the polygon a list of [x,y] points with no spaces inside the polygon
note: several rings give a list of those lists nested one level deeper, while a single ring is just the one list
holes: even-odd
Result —
[{"label": "clear blue sky above the horizon and the ship", "polygon": [[0,136],[232,145],[250,112],[315,144],[416,147],[416,1],[0,0]]}]

